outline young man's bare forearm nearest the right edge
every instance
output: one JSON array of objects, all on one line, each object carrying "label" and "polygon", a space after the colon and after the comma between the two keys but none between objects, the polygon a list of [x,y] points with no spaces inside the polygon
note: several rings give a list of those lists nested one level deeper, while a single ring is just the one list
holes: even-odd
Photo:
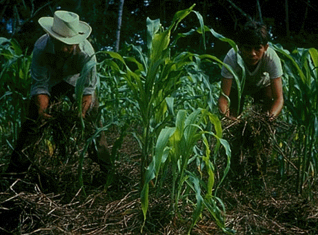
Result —
[{"label": "young man's bare forearm nearest the right edge", "polygon": [[283,96],[283,85],[281,83],[281,77],[272,79],[270,82],[270,88],[272,90],[272,107],[268,111],[269,116],[275,117],[283,109],[284,96]]}]

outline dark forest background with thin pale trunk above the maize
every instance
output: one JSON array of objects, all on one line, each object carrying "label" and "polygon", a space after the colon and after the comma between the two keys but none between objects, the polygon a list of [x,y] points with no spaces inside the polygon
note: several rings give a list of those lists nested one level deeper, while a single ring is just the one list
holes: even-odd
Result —
[{"label": "dark forest background with thin pale trunk above the maize", "polygon": [[[95,50],[117,50],[117,44],[119,47],[125,43],[143,45],[147,17],[160,19],[167,26],[175,12],[193,3],[196,3],[194,10],[202,14],[209,28],[230,39],[235,40],[239,25],[257,19],[268,25],[272,41],[286,49],[317,48],[318,2],[310,0],[0,0],[0,35],[17,39],[29,53],[43,34],[37,20],[52,17],[55,10],[70,10],[92,26],[90,41]],[[195,14],[179,25],[178,32],[188,32],[193,26],[199,26]],[[222,44],[212,35],[206,40],[207,46],[203,48],[201,37],[193,35],[179,43],[179,47],[216,55],[226,53],[227,43]]]}]

